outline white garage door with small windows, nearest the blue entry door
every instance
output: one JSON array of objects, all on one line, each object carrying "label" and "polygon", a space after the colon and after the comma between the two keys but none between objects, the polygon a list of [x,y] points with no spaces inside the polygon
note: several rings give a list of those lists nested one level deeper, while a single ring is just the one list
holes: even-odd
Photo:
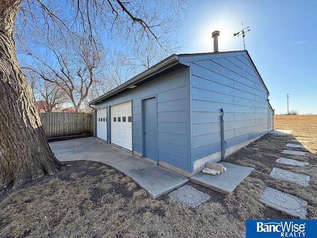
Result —
[{"label": "white garage door with small windows, nearest the blue entry door", "polygon": [[132,150],[131,101],[110,107],[111,143]]}]

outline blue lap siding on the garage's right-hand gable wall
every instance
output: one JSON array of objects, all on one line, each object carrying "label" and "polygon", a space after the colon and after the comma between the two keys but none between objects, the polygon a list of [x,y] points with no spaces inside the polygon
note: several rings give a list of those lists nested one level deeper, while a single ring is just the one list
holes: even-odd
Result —
[{"label": "blue lap siding on the garage's right-hand gable wall", "polygon": [[221,151],[220,109],[226,147],[268,130],[266,89],[246,53],[192,61],[192,160]]}]

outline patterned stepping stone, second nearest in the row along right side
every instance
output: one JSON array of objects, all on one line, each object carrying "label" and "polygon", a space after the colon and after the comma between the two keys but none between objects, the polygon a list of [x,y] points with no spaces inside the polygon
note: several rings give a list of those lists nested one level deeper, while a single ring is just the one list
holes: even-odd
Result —
[{"label": "patterned stepping stone, second nearest in the row along right side", "polygon": [[273,168],[272,172],[269,174],[270,177],[277,178],[277,179],[283,179],[291,182],[297,182],[299,184],[302,184],[304,186],[309,186],[309,181],[311,180],[311,177],[308,175],[302,175],[294,172],[290,172],[288,170],[281,170],[277,168]]}]

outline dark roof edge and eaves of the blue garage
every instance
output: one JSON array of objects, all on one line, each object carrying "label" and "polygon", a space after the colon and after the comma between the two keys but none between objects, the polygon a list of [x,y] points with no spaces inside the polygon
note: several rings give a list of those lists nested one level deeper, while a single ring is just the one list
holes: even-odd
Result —
[{"label": "dark roof edge and eaves of the blue garage", "polygon": [[[256,73],[258,74],[261,82],[263,83],[263,86],[267,93],[268,90],[264,84],[264,81],[258,72],[258,69],[256,68],[254,62],[252,61],[248,51],[230,51],[230,52],[215,52],[215,53],[197,53],[197,54],[180,54],[176,55],[173,54],[166,59],[160,61],[159,63],[155,64],[151,68],[143,71],[142,73],[134,76],[133,78],[129,79],[128,81],[124,82],[123,84],[119,85],[118,87],[110,90],[106,94],[98,97],[97,99],[89,102],[90,105],[95,104],[97,102],[102,102],[103,100],[107,98],[111,98],[115,95],[118,95],[120,93],[123,93],[131,88],[134,88],[136,86],[139,86],[141,84],[144,84],[148,81],[151,81],[152,79],[155,79],[161,75],[164,75],[168,72],[171,72],[173,70],[176,70],[178,68],[181,68],[183,66],[190,66],[191,61],[199,61],[199,60],[207,60],[207,59],[216,59],[217,56],[219,58],[235,56],[239,53],[246,53],[250,59],[250,62],[254,69],[256,70]],[[226,56],[227,55],[227,56]]]}]

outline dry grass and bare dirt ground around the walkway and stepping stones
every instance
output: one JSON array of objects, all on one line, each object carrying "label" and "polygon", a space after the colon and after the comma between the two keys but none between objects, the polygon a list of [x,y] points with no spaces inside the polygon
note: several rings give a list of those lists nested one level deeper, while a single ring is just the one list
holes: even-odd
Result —
[{"label": "dry grass and bare dirt ground around the walkway and stepping stones", "polygon": [[[317,219],[316,125],[317,116],[275,116],[274,128],[293,129],[294,136],[266,134],[227,157],[226,162],[255,168],[232,194],[188,182],[211,196],[196,209],[167,195],[154,200],[110,166],[91,161],[65,163],[58,174],[19,190],[0,188],[0,238],[238,238],[245,219],[296,219],[258,201],[266,186],[305,199],[307,219]],[[294,138],[303,141],[312,154],[284,157],[309,162],[308,167],[275,163]],[[311,184],[304,187],[270,178],[273,167],[310,175]]]}]

